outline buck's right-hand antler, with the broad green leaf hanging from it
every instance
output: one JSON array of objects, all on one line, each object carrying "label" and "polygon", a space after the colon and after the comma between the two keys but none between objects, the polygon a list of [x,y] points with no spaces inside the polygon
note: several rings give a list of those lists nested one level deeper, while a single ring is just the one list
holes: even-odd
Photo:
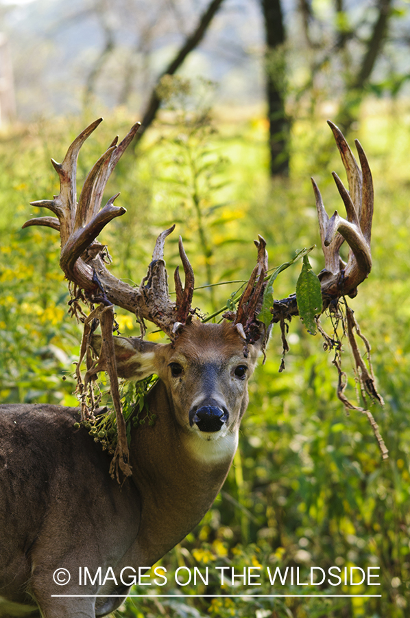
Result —
[{"label": "buck's right-hand antler, with the broad green leaf hanging from it", "polygon": [[[367,163],[361,144],[356,140],[361,164],[359,168],[339,128],[333,122],[328,121],[328,124],[333,131],[341,160],[346,169],[349,191],[343,186],[339,176],[333,172],[337,189],[346,207],[347,218],[339,216],[337,211],[329,218],[319,189],[312,179],[325,258],[325,268],[319,273],[323,310],[331,301],[343,295],[354,297],[357,294],[357,286],[363,282],[372,268],[370,237],[373,216],[373,183],[369,163]],[[350,247],[346,264],[339,255],[344,240]],[[239,300],[237,312],[228,311],[224,314],[224,317],[234,321],[246,343],[254,343],[261,336],[258,314],[263,304],[263,294],[267,283],[265,281],[267,275],[266,242],[259,236],[255,244],[258,248],[258,260]],[[292,316],[299,314],[296,294],[274,301],[272,314],[272,322],[280,322],[284,328],[285,319],[291,319]]]}]

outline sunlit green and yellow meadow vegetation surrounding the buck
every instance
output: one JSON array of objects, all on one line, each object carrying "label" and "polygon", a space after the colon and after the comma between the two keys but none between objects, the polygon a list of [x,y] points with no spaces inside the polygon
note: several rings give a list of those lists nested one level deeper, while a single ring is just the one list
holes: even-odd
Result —
[{"label": "sunlit green and yellow meadow vegetation surrounding the buck", "polygon": [[[351,301],[372,342],[373,365],[385,408],[372,409],[389,448],[382,463],[364,416],[347,416],[335,395],[337,374],[319,336],[290,325],[291,351],[278,374],[280,332],[274,329],[267,361],[250,384],[250,406],[240,448],[224,490],[202,523],[160,561],[180,566],[380,567],[381,586],[341,586],[341,594],[381,598],[130,599],[121,615],[203,617],[405,618],[410,571],[410,358],[409,178],[407,103],[363,109],[357,135],[374,174],[376,205],[372,273]],[[400,106],[400,109],[398,107]],[[400,113],[399,113],[400,112]],[[80,328],[67,317],[67,286],[58,269],[57,233],[21,230],[32,216],[29,201],[58,193],[49,158],[61,161],[71,139],[90,118],[37,122],[0,135],[0,396],[2,402],[75,404],[72,363]],[[119,111],[91,137],[80,155],[79,181],[133,119]],[[314,175],[331,214],[341,202],[330,170],[342,171],[324,119],[293,125],[291,177],[267,179],[266,122],[260,117],[210,127],[206,115],[164,115],[138,151],[126,154],[110,180],[128,213],[101,234],[112,271],[139,283],[156,234],[177,222],[197,285],[248,278],[256,258],[252,239],[267,240],[269,264],[290,260],[296,249],[319,245],[309,176]],[[352,140],[351,140],[352,141]],[[176,238],[167,240],[169,271],[178,263]],[[322,266],[319,249],[309,255]],[[275,282],[276,298],[295,289],[300,262]],[[198,290],[194,305],[209,312],[225,304],[238,284]],[[119,312],[121,332],[138,334]],[[158,336],[158,335],[152,335]],[[345,369],[350,371],[347,343]],[[351,373],[351,371],[350,371]],[[350,385],[355,398],[354,382]],[[154,588],[154,586],[152,586]],[[174,586],[157,594],[194,593]],[[243,587],[241,587],[243,592]],[[263,586],[248,593],[269,594]],[[324,593],[325,588],[320,590]],[[214,581],[196,593],[220,593]],[[287,592],[304,594],[303,586]],[[317,592],[317,590],[314,590]],[[335,594],[335,588],[328,588]],[[146,593],[137,588],[136,594]],[[224,593],[235,593],[228,587]],[[276,588],[275,593],[283,593]]]}]

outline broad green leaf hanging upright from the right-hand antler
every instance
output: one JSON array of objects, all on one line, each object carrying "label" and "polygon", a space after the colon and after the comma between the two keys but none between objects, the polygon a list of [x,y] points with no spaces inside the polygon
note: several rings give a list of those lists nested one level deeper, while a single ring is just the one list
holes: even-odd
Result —
[{"label": "broad green leaf hanging upright from the right-hand antler", "polygon": [[306,330],[316,334],[315,316],[322,312],[322,292],[307,255],[304,255],[302,271],[296,284],[296,301]]}]

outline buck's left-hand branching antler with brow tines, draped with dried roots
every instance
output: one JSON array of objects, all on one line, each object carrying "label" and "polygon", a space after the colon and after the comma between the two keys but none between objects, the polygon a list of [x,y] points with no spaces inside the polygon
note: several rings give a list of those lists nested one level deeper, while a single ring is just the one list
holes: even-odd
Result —
[{"label": "buck's left-hand branching antler with brow tines, draped with dried roots", "polygon": [[185,287],[176,272],[177,301],[171,302],[168,293],[167,271],[164,260],[165,238],[175,226],[163,231],[156,240],[152,262],[139,288],[114,277],[104,263],[104,245],[97,240],[102,229],[115,217],[123,215],[123,207],[114,206],[119,194],[108,200],[101,208],[101,200],[112,170],[129,146],[140,124],[134,124],[128,135],[117,145],[116,137],[89,172],[80,198],[76,198],[77,157],[84,141],[101,123],[101,118],[88,126],[73,141],[62,163],[52,161],[60,178],[60,193],[53,200],[32,202],[33,206],[46,207],[56,217],[30,219],[23,227],[45,225],[60,231],[60,266],[69,281],[79,290],[84,290],[91,302],[116,304],[134,314],[144,332],[144,319],[154,322],[166,334],[175,339],[178,325],[186,323],[191,312],[194,277],[186,257],[182,240],[180,256],[185,272]]}]

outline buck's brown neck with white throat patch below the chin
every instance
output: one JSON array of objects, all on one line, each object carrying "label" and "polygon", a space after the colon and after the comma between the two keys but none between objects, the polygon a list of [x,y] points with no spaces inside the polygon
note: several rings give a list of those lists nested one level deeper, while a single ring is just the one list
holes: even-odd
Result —
[{"label": "buck's brown neck with white throat patch below the chin", "polygon": [[156,423],[133,428],[130,448],[132,479],[141,494],[134,557],[143,566],[154,564],[200,522],[223,485],[237,448],[237,431],[217,448],[178,426],[162,382],[148,403],[157,414]]}]

